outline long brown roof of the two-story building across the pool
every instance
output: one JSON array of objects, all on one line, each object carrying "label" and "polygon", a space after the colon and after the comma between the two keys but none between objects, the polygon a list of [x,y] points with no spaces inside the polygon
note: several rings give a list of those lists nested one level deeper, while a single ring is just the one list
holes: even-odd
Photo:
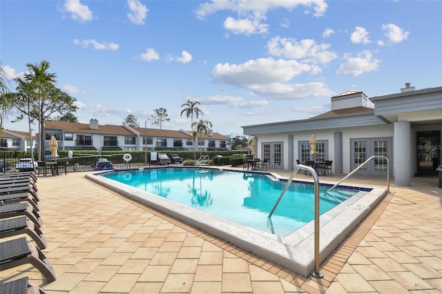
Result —
[{"label": "long brown roof of the two-story building across the pool", "polygon": [[[134,136],[133,133],[126,126],[116,126],[111,124],[99,125],[98,129],[90,128],[90,124],[79,124],[71,123],[68,121],[54,121],[45,120],[45,128],[50,130],[61,130],[64,133],[84,133],[84,134],[104,134],[104,135],[123,135],[123,136]],[[132,128],[136,132],[140,133],[141,136],[146,134],[149,137],[169,137],[169,138],[189,138],[189,133],[185,130],[160,130],[157,128]],[[198,134],[198,137],[200,134]],[[202,139],[218,139],[218,140],[230,140],[229,137],[221,135],[220,133],[204,134],[202,133]]]}]

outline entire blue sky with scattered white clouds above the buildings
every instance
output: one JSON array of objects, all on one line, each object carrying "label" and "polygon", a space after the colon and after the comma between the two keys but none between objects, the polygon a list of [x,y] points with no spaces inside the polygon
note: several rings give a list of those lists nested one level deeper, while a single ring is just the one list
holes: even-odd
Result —
[{"label": "entire blue sky with scattered white clouds above the buildings", "polygon": [[12,80],[48,60],[80,122],[144,126],[166,108],[164,129],[189,130],[191,99],[213,131],[242,135],[327,112],[347,90],[441,86],[441,16],[442,1],[1,0],[0,61]]}]

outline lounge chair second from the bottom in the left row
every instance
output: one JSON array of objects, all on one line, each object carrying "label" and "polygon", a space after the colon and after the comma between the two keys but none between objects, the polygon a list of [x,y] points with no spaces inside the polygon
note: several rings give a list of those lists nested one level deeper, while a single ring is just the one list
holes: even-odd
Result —
[{"label": "lounge chair second from the bottom in the left row", "polygon": [[26,237],[0,243],[0,267],[2,270],[23,264],[35,266],[48,282],[53,282],[56,279],[52,264],[39,248],[28,242]]}]

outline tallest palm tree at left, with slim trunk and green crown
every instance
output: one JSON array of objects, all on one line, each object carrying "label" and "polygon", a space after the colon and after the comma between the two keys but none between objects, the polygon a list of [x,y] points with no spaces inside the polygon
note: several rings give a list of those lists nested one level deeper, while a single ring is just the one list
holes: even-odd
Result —
[{"label": "tallest palm tree at left, with slim trunk and green crown", "polygon": [[[41,134],[41,130],[44,130],[44,119],[41,119],[42,113],[42,103],[41,101],[46,99],[47,93],[45,90],[45,86],[47,84],[55,84],[57,82],[57,75],[55,73],[48,72],[50,68],[50,63],[47,60],[43,60],[40,63],[26,63],[26,67],[28,68],[28,72],[23,75],[23,81],[28,82],[34,89],[34,101],[38,103],[38,121],[39,121],[39,159],[43,159],[41,157],[44,154],[44,135]],[[32,146],[31,146],[32,148]]]}]

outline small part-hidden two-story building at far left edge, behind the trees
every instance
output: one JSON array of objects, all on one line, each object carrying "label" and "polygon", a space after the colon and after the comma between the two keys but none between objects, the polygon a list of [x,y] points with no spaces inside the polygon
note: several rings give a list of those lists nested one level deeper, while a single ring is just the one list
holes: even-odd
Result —
[{"label": "small part-hidden two-story building at far left edge, behind the trees", "polygon": [[[32,139],[32,143],[31,143]],[[37,140],[33,130],[31,131],[31,139],[29,133],[20,130],[1,130],[0,150],[21,150],[30,152],[30,148],[35,150]]]}]

